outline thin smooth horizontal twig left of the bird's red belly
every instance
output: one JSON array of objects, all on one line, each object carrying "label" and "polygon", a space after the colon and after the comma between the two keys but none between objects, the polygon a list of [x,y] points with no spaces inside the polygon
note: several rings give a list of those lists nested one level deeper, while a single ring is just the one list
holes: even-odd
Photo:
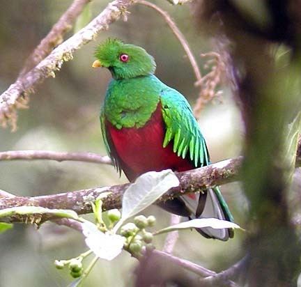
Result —
[{"label": "thin smooth horizontal twig left of the bird's red belly", "polygon": [[63,162],[72,160],[77,162],[94,162],[97,164],[111,164],[108,156],[97,153],[59,153],[49,150],[8,150],[0,152],[1,160],[56,160]]}]

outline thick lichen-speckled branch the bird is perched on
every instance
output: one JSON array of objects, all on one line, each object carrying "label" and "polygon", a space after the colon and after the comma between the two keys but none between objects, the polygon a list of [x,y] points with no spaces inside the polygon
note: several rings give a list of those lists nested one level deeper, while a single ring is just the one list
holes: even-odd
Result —
[{"label": "thick lichen-speckled branch the bird is perched on", "polygon": [[[210,166],[204,166],[200,169],[193,169],[176,173],[180,186],[170,190],[168,194],[162,196],[160,201],[167,201],[176,196],[189,192],[198,192],[208,187],[230,183],[238,179],[238,169],[242,158],[225,160]],[[129,184],[114,185],[111,187],[82,189],[75,192],[65,192],[61,194],[49,194],[45,196],[23,197],[15,196],[13,198],[0,198],[0,210],[22,205],[41,206],[44,208],[58,208],[74,210],[78,214],[92,212],[91,201],[95,201],[100,192],[111,192],[111,195],[104,199],[103,208],[109,210],[112,208],[121,208],[121,199],[123,192]],[[22,222],[24,218],[14,217],[11,222]],[[49,215],[43,215],[41,222],[53,219]]]}]

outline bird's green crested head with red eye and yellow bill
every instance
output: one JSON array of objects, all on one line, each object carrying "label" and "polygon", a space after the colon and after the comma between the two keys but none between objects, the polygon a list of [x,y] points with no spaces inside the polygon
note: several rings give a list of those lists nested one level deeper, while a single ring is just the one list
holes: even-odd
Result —
[{"label": "bird's green crested head with red eye and yellow bill", "polygon": [[155,72],[155,60],[145,49],[125,44],[118,39],[107,39],[95,51],[93,67],[105,67],[114,79],[130,79]]}]

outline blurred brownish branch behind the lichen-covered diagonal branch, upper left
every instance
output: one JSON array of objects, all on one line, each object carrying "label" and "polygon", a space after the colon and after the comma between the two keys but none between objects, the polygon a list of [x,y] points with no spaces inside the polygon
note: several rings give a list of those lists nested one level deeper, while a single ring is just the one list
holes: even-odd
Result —
[{"label": "blurred brownish branch behind the lichen-covered diagonal branch, upper left", "polygon": [[70,7],[63,13],[61,18],[54,24],[47,36],[41,40],[40,44],[29,58],[26,60],[18,79],[22,78],[26,72],[31,70],[35,65],[40,63],[47,55],[52,52],[52,49],[63,41],[63,35],[70,31],[72,22],[82,13],[84,6],[91,0],[74,0]]}]

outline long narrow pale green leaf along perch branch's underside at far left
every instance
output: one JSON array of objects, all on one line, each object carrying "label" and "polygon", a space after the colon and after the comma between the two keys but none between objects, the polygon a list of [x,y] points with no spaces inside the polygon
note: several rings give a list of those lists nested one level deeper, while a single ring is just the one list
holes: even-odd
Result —
[{"label": "long narrow pale green leaf along perch branch's underside at far left", "polygon": [[33,214],[52,214],[58,217],[72,218],[79,220],[77,212],[73,210],[64,210],[64,209],[49,209],[42,208],[39,206],[18,206],[15,208],[5,208],[0,210],[0,217],[10,217],[12,215],[33,215]]}]

